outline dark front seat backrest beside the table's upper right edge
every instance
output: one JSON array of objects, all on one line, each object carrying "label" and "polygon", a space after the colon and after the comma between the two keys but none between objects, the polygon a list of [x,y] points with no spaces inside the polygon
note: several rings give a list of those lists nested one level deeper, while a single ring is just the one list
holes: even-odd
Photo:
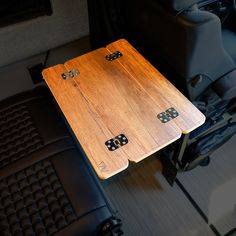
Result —
[{"label": "dark front seat backrest beside the table's upper right edge", "polygon": [[[128,2],[125,15],[129,31],[183,78],[192,100],[233,70],[234,62],[223,47],[220,19],[199,10],[196,3],[200,1]],[[205,79],[193,87],[192,80],[199,75]]]}]

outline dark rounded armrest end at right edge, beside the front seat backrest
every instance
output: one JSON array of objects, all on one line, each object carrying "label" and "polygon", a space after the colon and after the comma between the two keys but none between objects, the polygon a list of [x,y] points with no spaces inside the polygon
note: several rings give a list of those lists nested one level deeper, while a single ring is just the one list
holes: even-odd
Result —
[{"label": "dark rounded armrest end at right edge, beside the front seat backrest", "polygon": [[223,99],[230,100],[236,97],[236,69],[216,80],[213,90]]}]

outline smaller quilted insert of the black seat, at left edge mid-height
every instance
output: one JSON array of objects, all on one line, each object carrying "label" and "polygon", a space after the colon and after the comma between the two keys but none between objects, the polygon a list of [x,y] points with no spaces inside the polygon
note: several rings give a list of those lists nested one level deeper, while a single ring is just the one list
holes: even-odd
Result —
[{"label": "smaller quilted insert of the black seat, at left edge mid-height", "polygon": [[40,135],[24,105],[0,111],[0,168],[42,147]]}]

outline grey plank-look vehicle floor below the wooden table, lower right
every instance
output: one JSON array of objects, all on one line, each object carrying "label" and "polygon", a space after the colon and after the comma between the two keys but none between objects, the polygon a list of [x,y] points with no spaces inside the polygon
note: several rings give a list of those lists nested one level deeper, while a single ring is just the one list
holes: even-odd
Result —
[{"label": "grey plank-look vehicle floor below the wooden table, lower right", "polygon": [[209,166],[179,173],[174,187],[155,156],[104,181],[125,235],[223,236],[235,228],[235,144],[236,135],[211,156]]}]

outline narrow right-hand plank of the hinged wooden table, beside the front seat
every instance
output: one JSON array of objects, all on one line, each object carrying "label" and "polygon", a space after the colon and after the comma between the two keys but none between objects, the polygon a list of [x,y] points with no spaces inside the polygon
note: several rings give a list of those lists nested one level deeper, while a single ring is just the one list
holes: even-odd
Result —
[{"label": "narrow right-hand plank of the hinged wooden table, beside the front seat", "polygon": [[162,105],[163,111],[174,107],[179,112],[180,116],[173,121],[182,133],[190,133],[205,122],[205,116],[126,40],[118,40],[107,49],[122,52],[124,56],[118,59],[119,62],[153,100]]}]

